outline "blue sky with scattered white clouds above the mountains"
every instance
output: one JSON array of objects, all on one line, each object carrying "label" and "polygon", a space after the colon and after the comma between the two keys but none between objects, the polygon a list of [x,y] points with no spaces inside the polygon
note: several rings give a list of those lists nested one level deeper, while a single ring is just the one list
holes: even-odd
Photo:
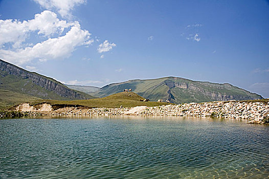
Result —
[{"label": "blue sky with scattered white clouds above the mountains", "polygon": [[0,0],[0,59],[65,84],[175,76],[269,98],[269,1]]}]

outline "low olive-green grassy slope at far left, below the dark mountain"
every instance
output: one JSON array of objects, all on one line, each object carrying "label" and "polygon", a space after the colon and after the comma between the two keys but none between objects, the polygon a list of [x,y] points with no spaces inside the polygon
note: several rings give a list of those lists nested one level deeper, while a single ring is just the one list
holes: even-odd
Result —
[{"label": "low olive-green grassy slope at far left, below the dark mountain", "polygon": [[38,100],[41,99],[28,94],[11,92],[0,88],[0,109],[9,108],[23,102],[33,102]]}]

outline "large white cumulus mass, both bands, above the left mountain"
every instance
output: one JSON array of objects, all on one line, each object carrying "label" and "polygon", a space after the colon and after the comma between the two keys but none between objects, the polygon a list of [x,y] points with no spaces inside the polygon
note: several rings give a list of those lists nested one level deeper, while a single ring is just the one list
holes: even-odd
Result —
[{"label": "large white cumulus mass, both bands, above the left mountain", "polygon": [[[69,31],[62,34],[67,28],[70,28]],[[36,44],[26,43],[33,33],[46,39]],[[56,37],[52,38],[52,35]],[[92,42],[91,34],[82,30],[77,21],[68,23],[59,20],[54,12],[48,10],[27,21],[0,20],[0,58],[17,65],[34,59],[44,62],[69,57],[77,47]]]}]

